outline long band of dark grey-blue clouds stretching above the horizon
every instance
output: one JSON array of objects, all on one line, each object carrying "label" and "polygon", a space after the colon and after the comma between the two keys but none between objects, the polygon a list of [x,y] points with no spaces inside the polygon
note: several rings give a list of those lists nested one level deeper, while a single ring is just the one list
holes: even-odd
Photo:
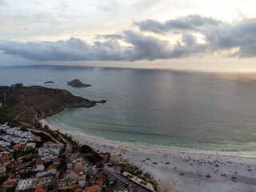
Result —
[{"label": "long band of dark grey-blue clouds stretching above the horizon", "polygon": [[[172,38],[180,34],[182,39],[171,43],[145,35],[142,32],[125,30],[122,34],[99,35],[105,41],[92,44],[80,38],[58,42],[0,42],[4,54],[37,61],[138,61],[169,58],[188,58],[191,55],[212,54],[232,50],[230,57],[250,58],[256,56],[256,18],[239,22],[221,22],[198,15],[172,19],[161,23],[152,20],[136,22],[140,30],[162,34]],[[201,34],[204,43],[198,43]],[[128,46],[121,46],[120,41]],[[123,44],[122,44],[123,45]]]}]

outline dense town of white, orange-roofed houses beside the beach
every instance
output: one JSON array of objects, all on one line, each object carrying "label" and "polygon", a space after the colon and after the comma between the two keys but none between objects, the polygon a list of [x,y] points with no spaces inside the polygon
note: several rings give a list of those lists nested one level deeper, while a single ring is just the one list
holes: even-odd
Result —
[{"label": "dense town of white, orange-roofed houses beside the beach", "polygon": [[142,178],[113,170],[110,153],[65,135],[1,124],[0,133],[0,191],[154,191]]}]

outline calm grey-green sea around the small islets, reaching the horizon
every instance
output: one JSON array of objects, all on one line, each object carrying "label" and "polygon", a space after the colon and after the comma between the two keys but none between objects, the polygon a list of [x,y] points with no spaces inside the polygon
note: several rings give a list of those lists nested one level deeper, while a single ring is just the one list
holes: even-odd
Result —
[{"label": "calm grey-green sea around the small islets, reaching the horizon", "polygon": [[[69,90],[92,108],[46,118],[52,126],[122,142],[198,150],[256,149],[256,74],[84,66],[1,66],[0,84]],[[90,87],[74,88],[74,78]],[[54,84],[44,84],[46,81]]]}]

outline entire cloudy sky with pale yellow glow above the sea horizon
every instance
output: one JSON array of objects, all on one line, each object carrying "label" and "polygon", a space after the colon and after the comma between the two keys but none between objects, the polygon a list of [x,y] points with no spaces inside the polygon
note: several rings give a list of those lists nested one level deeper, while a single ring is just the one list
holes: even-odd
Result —
[{"label": "entire cloudy sky with pale yellow glow above the sea horizon", "polygon": [[0,66],[256,71],[254,0],[0,0]]}]

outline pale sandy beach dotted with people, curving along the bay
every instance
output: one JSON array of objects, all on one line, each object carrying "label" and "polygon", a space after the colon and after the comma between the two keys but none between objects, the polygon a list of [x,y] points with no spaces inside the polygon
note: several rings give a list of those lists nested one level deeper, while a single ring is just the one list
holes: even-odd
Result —
[{"label": "pale sandy beach dotted with people, curving along the bay", "polygon": [[[41,122],[46,123],[44,119]],[[122,159],[154,175],[161,191],[256,191],[256,153],[253,152],[165,149],[95,138],[47,125],[94,150],[122,154]]]}]

